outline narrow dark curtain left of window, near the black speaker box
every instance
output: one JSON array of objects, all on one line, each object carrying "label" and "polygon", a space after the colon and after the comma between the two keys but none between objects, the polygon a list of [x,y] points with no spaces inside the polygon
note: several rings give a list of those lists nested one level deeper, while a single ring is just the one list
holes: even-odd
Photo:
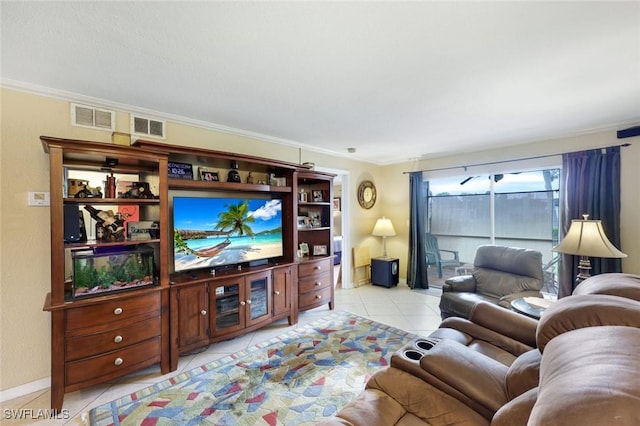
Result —
[{"label": "narrow dark curtain left of window, near the black speaker box", "polygon": [[409,174],[409,264],[407,265],[407,284],[411,288],[429,288],[427,278],[426,250],[424,236],[425,196],[429,182],[424,182],[422,172]]}]

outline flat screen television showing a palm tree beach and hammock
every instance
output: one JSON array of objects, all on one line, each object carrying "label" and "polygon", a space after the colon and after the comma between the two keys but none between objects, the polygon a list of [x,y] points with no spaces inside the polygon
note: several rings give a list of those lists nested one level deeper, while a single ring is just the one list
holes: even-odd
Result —
[{"label": "flat screen television showing a palm tree beach and hammock", "polygon": [[174,197],[174,271],[264,261],[283,254],[282,202]]}]

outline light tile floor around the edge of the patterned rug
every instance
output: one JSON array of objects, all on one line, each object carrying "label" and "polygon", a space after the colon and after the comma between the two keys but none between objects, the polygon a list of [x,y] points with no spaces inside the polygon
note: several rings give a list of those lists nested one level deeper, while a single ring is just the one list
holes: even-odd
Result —
[{"label": "light tile floor around the edge of the patterned rug", "polygon": [[[438,309],[440,294],[441,291],[439,289],[411,290],[406,284],[399,284],[393,288],[372,285],[353,289],[337,288],[335,310],[349,311],[387,325],[426,336],[437,329],[440,324],[440,310]],[[286,320],[282,320],[244,336],[212,344],[198,353],[180,357],[177,371],[170,374],[160,375],[158,367],[154,366],[128,375],[113,383],[105,383],[68,393],[65,395],[63,406],[65,419],[44,419],[40,417],[42,420],[34,420],[34,417],[37,418],[38,415],[43,414],[42,410],[47,410],[50,407],[51,393],[49,389],[43,389],[6,401],[2,403],[0,423],[7,425],[89,424],[87,413],[98,405],[316,321],[329,314],[329,312],[328,305],[325,305],[301,312],[297,325],[289,326]],[[20,413],[31,418],[23,420],[8,419],[8,413],[12,413],[13,417]]]}]

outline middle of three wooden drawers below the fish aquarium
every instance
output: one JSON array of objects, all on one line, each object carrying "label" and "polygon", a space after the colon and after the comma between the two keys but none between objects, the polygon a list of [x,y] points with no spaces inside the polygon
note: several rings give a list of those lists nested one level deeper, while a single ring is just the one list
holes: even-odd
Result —
[{"label": "middle of three wooden drawers below the fish aquarium", "polygon": [[73,361],[115,351],[159,336],[160,318],[148,319],[126,327],[66,339],[66,360]]}]

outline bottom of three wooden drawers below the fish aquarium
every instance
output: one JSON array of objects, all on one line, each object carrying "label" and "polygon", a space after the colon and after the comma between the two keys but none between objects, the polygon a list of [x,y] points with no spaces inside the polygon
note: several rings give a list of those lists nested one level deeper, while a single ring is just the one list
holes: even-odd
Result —
[{"label": "bottom of three wooden drawers below the fish aquarium", "polygon": [[94,356],[65,365],[65,384],[90,382],[98,377],[118,377],[145,365],[160,361],[160,337],[154,337],[127,348]]}]

